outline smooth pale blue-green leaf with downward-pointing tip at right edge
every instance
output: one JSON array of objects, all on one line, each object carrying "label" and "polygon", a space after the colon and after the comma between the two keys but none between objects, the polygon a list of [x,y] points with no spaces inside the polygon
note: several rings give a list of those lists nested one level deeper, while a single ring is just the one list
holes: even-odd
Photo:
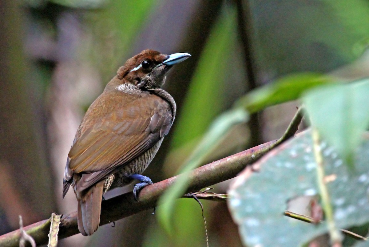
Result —
[{"label": "smooth pale blue-green leaf with downward-pointing tip at right edge", "polygon": [[304,97],[312,124],[350,166],[369,124],[369,79],[315,88]]}]

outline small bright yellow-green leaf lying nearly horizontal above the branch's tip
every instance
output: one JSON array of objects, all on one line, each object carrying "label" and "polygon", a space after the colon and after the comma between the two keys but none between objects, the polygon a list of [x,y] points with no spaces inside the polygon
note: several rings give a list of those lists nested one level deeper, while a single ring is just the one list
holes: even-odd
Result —
[{"label": "small bright yellow-green leaf lying nearly horizontal above the branch's tip", "polygon": [[291,74],[249,92],[239,99],[236,105],[244,107],[250,113],[254,113],[268,106],[298,99],[306,89],[332,81],[332,78],[317,73]]}]

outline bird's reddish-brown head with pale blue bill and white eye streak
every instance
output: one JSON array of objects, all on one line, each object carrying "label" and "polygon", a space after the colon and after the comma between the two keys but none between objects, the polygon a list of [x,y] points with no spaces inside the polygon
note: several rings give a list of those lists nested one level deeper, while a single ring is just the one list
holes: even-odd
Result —
[{"label": "bird's reddish-brown head with pale blue bill and white eye streak", "polygon": [[166,73],[170,68],[190,56],[188,53],[164,55],[158,51],[144,50],[128,59],[119,68],[117,77],[124,83],[134,84],[137,88],[160,88],[165,83]]}]

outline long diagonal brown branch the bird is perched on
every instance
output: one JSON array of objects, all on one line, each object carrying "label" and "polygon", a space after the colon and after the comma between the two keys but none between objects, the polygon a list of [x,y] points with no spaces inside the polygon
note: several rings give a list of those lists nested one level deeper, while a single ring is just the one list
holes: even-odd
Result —
[{"label": "long diagonal brown branch the bird is perched on", "polygon": [[[271,149],[292,137],[297,130],[297,126],[300,124],[301,117],[301,110],[299,109],[290,126],[287,128],[286,133],[277,141],[263,143],[254,148],[247,149],[194,169],[190,173],[189,186],[186,190],[186,194],[197,192],[204,187],[209,187],[237,176],[247,165],[254,163]],[[134,199],[132,192],[103,200],[101,203],[100,226],[154,208],[162,193],[180,176],[183,175],[170,177],[161,182],[144,187],[139,193],[139,202]],[[49,229],[50,219],[42,220],[23,228],[24,231],[34,238],[37,245],[48,243]],[[77,227],[77,212],[63,216],[59,225],[58,238],[66,238],[77,233],[79,233]],[[18,229],[0,236],[0,246],[19,246],[19,240],[20,230]]]}]

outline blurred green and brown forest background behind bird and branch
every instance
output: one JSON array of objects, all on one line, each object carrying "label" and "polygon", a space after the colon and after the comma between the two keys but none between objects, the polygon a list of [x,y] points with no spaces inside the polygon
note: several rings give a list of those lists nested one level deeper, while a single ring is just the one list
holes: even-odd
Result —
[{"label": "blurred green and brown forest background behind bird and branch", "polygon": [[[84,112],[125,60],[187,52],[164,88],[178,115],[145,175],[176,175],[213,119],[290,73],[369,75],[368,0],[1,0],[0,234],[76,210],[62,199],[66,157]],[[298,102],[232,129],[204,163],[280,137]],[[224,193],[229,181],[214,185]],[[131,190],[108,192],[109,198]],[[203,202],[210,246],[241,246],[225,203]],[[205,246],[200,206],[179,199],[169,237],[151,211],[59,246]]]}]

